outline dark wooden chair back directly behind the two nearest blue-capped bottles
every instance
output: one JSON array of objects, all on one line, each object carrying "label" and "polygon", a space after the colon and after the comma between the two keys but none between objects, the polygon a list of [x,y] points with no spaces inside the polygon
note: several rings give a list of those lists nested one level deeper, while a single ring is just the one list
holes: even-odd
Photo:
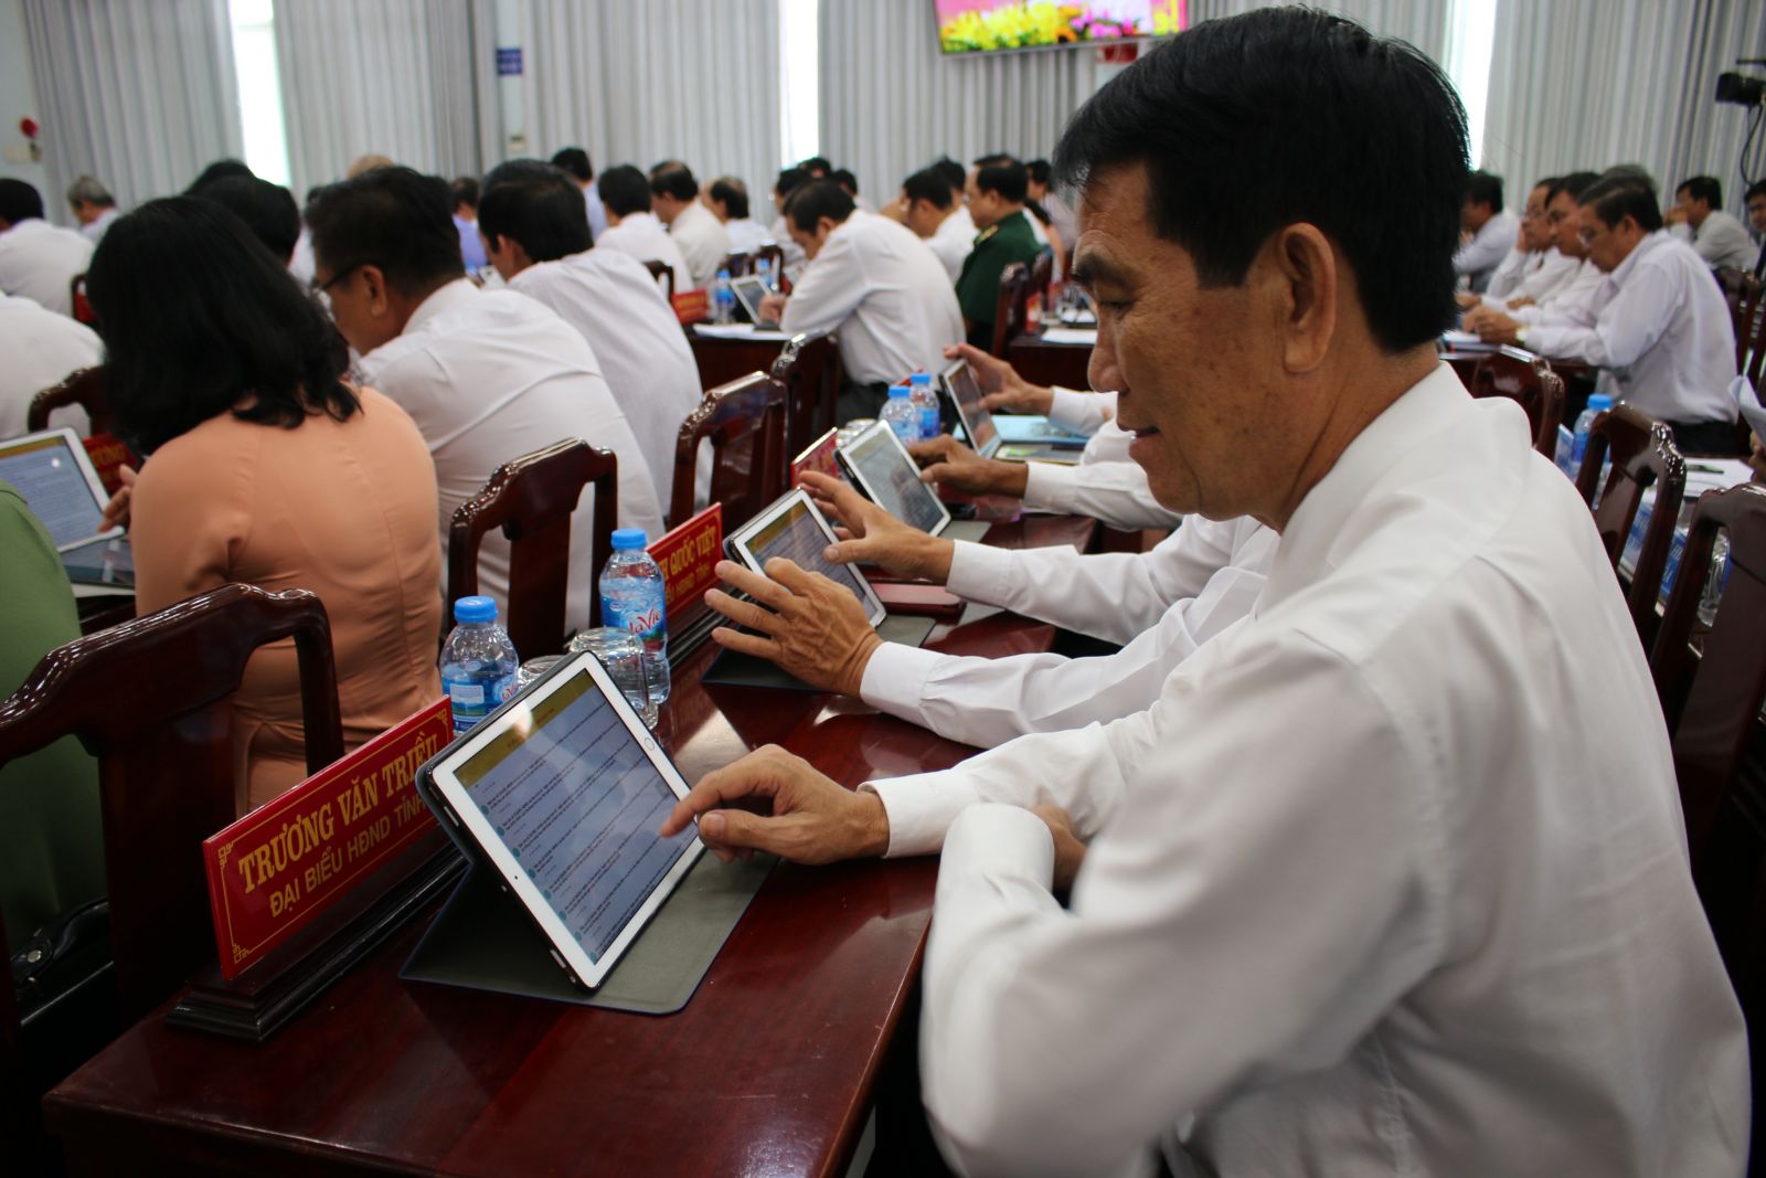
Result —
[{"label": "dark wooden chair back directly behind the two nearest blue-capped bottles", "polygon": [[[556,442],[503,463],[484,491],[454,509],[447,542],[447,599],[479,592],[479,544],[491,528],[509,539],[509,641],[523,657],[558,653],[567,638],[570,516],[583,487],[595,486],[590,567],[613,551],[620,505],[620,459],[581,438]],[[588,597],[588,623],[600,625],[600,595]],[[452,613],[452,611],[449,611]],[[443,639],[452,625],[443,618]]]}]

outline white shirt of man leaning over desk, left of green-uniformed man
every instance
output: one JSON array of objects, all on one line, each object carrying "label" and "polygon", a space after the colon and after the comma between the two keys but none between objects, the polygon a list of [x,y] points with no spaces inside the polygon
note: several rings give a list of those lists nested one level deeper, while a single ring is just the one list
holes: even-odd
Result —
[{"label": "white shirt of man leaning over desk, left of green-uniformed man", "polygon": [[839,332],[841,364],[860,385],[936,373],[962,341],[945,267],[913,230],[874,212],[837,224],[784,304],[788,336]]}]

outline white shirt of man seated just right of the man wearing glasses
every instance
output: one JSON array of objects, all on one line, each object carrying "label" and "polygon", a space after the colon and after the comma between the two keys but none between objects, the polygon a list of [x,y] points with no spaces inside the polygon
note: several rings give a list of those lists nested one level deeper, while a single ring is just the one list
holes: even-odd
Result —
[{"label": "white shirt of man seated just right of the man wearing glasses", "polygon": [[[675,487],[675,442],[705,392],[687,332],[650,270],[625,254],[588,249],[528,267],[509,288],[558,313],[588,341],[600,374],[625,413],[650,466],[664,514]],[[696,487],[710,486],[710,447],[699,454]]]}]

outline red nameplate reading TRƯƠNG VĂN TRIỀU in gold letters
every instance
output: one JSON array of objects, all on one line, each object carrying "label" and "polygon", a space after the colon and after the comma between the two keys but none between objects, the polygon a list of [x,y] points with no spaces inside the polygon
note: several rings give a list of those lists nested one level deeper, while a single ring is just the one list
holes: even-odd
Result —
[{"label": "red nameplate reading TR\u01af\u01a0NG V\u0102N TRI\u1ec0U in gold letters", "polygon": [[454,738],[447,699],[203,841],[221,975],[233,980],[434,827],[411,781]]}]

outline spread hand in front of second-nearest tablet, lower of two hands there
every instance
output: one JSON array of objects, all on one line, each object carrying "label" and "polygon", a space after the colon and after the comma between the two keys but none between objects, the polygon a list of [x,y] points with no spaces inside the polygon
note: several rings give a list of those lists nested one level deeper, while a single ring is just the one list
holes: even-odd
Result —
[{"label": "spread hand in front of second-nearest tablet, lower of two hands there", "polygon": [[865,664],[883,639],[865,622],[864,606],[849,588],[781,556],[766,562],[765,578],[733,560],[717,562],[717,576],[754,600],[706,590],[705,602],[731,622],[759,631],[738,634],[717,627],[712,639],[719,646],[777,662],[811,687],[858,694]]}]

